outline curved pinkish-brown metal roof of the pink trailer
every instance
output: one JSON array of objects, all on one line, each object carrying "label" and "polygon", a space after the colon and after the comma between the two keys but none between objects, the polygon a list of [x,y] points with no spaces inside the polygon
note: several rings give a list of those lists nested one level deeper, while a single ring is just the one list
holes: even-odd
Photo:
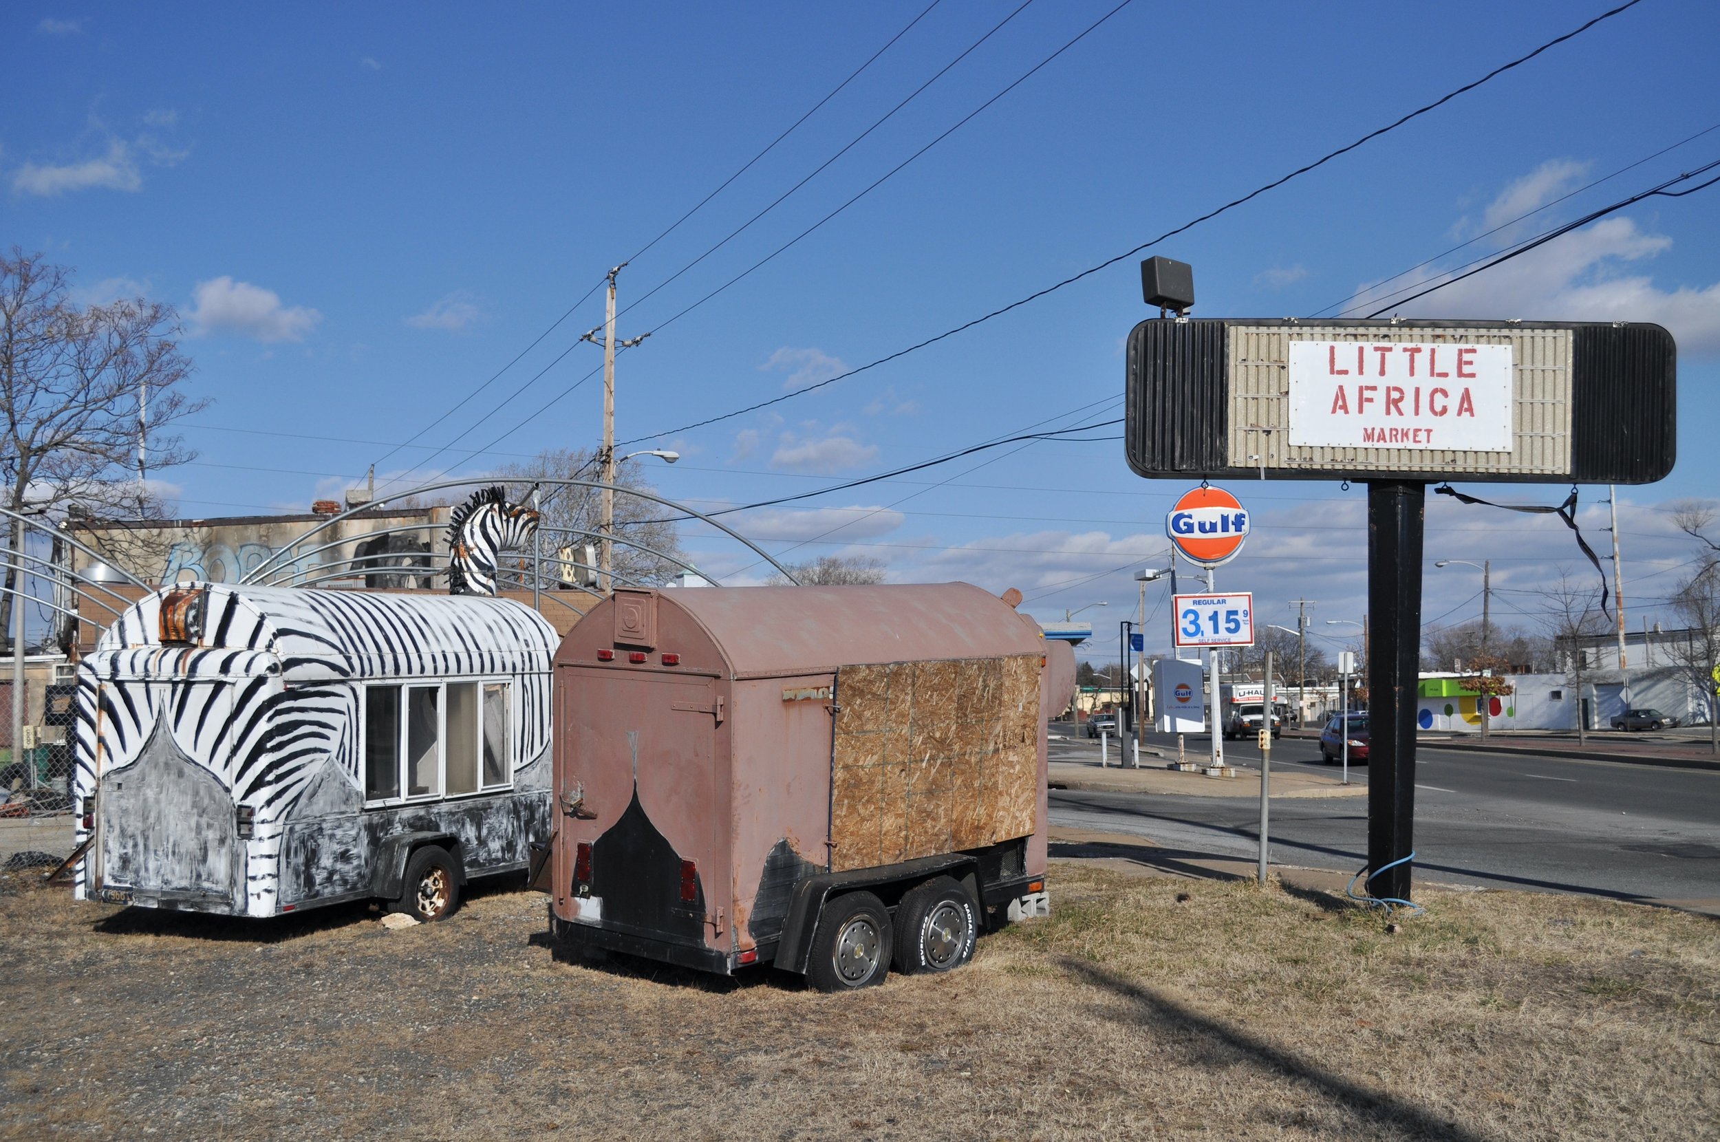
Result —
[{"label": "curved pinkish-brown metal roof of the pink trailer", "polygon": [[1030,619],[970,583],[710,586],[657,599],[659,616],[685,611],[710,633],[731,678],[1044,654]]}]

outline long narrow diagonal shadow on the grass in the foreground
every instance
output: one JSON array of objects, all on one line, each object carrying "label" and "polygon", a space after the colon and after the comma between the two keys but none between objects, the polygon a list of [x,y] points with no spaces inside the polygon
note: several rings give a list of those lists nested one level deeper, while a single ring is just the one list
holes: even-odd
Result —
[{"label": "long narrow diagonal shadow on the grass in the foreground", "polygon": [[1151,1027],[1206,1047],[1211,1066],[1242,1063],[1269,1075],[1312,1089],[1378,1132],[1379,1137],[1441,1139],[1483,1142],[1486,1135],[1465,1130],[1434,1111],[1355,1084],[1304,1059],[1293,1051],[1275,1047],[1237,1027],[1159,996],[1115,972],[1084,960],[1063,958],[1072,975],[1128,1001],[1125,1022]]}]

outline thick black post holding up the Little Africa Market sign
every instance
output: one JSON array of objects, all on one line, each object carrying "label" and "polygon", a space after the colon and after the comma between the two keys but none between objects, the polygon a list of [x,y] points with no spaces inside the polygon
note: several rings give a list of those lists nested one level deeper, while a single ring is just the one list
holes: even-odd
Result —
[{"label": "thick black post holding up the Little Africa Market sign", "polygon": [[[1416,820],[1416,676],[1421,666],[1421,552],[1428,487],[1367,482],[1367,612],[1383,616],[1367,659],[1367,884],[1409,899]],[[1348,726],[1345,726],[1348,729]],[[1395,862],[1404,863],[1395,863]],[[1393,865],[1386,872],[1379,872]]]}]

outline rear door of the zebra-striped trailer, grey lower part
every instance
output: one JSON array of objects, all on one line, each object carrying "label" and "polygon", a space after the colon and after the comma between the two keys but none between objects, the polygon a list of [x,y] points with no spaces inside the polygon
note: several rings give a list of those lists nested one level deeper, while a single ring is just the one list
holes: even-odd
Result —
[{"label": "rear door of the zebra-striped trailer, grey lower part", "polygon": [[244,846],[227,772],[230,734],[205,733],[191,757],[175,726],[227,726],[225,681],[101,683],[96,736],[96,875],[103,899],[243,905]]}]

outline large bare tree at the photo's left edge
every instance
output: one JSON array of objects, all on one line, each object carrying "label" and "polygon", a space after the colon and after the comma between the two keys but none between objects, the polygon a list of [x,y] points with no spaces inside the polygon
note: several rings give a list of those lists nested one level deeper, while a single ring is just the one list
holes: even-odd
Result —
[{"label": "large bare tree at the photo's left edge", "polygon": [[[14,513],[72,504],[86,516],[165,514],[143,473],[193,457],[169,432],[205,408],[182,382],[191,361],[174,308],[143,298],[79,306],[71,270],[17,246],[0,255],[0,475]],[[12,542],[22,543],[14,523]],[[10,631],[15,568],[0,624]]]}]

